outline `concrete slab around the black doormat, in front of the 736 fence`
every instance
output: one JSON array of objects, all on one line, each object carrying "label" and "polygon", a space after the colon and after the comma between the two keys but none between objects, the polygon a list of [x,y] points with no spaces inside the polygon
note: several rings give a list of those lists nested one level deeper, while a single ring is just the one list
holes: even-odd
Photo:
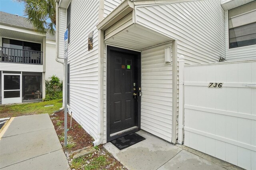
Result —
[{"label": "concrete slab around the black doormat, in front of the 736 fence", "polygon": [[104,145],[108,152],[130,170],[242,169],[186,146],[174,146],[143,130],[137,133],[146,140],[121,151],[110,142]]}]

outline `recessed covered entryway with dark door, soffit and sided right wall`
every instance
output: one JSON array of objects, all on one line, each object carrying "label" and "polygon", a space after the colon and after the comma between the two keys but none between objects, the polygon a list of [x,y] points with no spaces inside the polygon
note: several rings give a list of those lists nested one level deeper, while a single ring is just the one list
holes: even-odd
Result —
[{"label": "recessed covered entryway with dark door, soffit and sided right wall", "polygon": [[[177,76],[174,71],[177,69],[176,42],[159,32],[134,24],[132,14],[128,14],[104,31],[103,47],[106,142],[142,129],[176,143],[177,79],[173,79]],[[134,58],[128,54],[136,55],[138,62],[134,70],[134,73],[138,72],[138,77],[129,77],[129,80],[126,75],[123,79],[120,77],[120,74],[130,74],[134,69],[132,65],[136,64],[126,63],[126,60]],[[126,95],[130,98],[126,99]]]}]

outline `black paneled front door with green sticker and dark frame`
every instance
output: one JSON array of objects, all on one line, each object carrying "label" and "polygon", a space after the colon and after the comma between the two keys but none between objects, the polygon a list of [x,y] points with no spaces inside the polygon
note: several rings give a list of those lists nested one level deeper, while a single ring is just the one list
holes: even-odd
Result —
[{"label": "black paneled front door with green sticker and dark frame", "polygon": [[[117,47],[107,48],[107,117],[110,134],[138,127],[140,53]],[[124,133],[125,134],[125,133]]]}]

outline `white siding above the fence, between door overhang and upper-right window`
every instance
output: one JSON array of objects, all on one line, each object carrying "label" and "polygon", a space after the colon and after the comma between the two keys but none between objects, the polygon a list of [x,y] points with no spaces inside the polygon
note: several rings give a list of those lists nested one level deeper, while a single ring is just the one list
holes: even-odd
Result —
[{"label": "white siding above the fence, between door overhang and upper-right window", "polygon": [[136,7],[136,23],[177,40],[187,64],[225,56],[225,17],[220,0]]}]

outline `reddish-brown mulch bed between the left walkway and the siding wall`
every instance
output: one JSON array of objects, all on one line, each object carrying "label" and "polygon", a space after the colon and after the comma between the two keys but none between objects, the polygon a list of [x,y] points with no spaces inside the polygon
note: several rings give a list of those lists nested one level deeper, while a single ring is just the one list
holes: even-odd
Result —
[{"label": "reddish-brown mulch bed between the left walkway and the siding wall", "polygon": [[[70,115],[68,114],[68,144],[72,144],[72,147],[64,147],[64,111],[58,111],[50,115],[52,123],[58,134],[68,163],[72,170],[76,169],[108,169],[108,170],[127,170],[118,160],[116,160],[102,145],[97,147],[97,152],[85,156],[83,159],[84,164],[74,168],[74,161],[70,157],[70,152],[85,148],[87,146],[93,146],[94,139],[74,120],[72,119],[72,126],[70,128]],[[101,156],[104,156],[105,163],[101,164],[98,168],[92,168],[91,163]],[[91,163],[90,163],[91,162]],[[72,165],[73,163],[73,165]],[[91,168],[90,168],[91,167]]]}]

